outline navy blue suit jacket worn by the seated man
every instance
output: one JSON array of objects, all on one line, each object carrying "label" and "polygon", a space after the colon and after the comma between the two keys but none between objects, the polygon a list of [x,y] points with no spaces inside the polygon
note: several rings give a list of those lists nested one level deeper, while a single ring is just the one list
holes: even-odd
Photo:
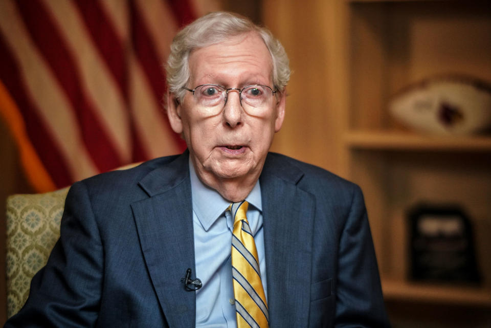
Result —
[{"label": "navy blue suit jacket worn by the seated man", "polygon": [[[75,183],[48,264],[5,327],[193,327],[188,156]],[[260,185],[270,327],[388,326],[360,188],[272,153]]]}]

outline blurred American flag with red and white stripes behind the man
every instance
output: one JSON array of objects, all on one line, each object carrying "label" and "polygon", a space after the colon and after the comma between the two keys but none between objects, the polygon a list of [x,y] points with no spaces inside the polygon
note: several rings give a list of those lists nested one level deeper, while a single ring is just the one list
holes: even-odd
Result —
[{"label": "blurred American flag with red and white stripes behind the man", "polygon": [[164,62],[187,0],[0,0],[0,113],[35,190],[177,154]]}]

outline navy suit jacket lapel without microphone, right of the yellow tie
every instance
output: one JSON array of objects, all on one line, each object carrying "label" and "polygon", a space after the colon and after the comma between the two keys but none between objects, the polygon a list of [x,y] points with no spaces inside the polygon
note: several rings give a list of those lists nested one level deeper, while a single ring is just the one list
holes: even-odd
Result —
[{"label": "navy suit jacket lapel without microphone, right of the yellow tie", "polygon": [[315,201],[298,188],[302,176],[296,167],[276,165],[271,156],[261,174],[271,328],[308,324]]}]

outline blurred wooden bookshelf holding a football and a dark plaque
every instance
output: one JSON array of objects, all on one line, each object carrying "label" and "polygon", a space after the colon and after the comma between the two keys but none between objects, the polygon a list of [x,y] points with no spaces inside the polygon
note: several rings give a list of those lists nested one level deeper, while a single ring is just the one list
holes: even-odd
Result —
[{"label": "blurred wooden bookshelf holding a football and a dark plaque", "polygon": [[[344,1],[348,41],[341,121],[343,175],[365,195],[370,227],[390,304],[480,309],[468,326],[491,321],[491,136],[418,133],[390,115],[391,96],[438,74],[491,81],[491,6],[478,1]],[[452,204],[471,218],[482,284],[408,280],[407,212],[420,202]],[[414,320],[426,325],[417,307]],[[474,313],[474,312],[473,312]],[[399,323],[400,313],[391,313]],[[418,321],[419,320],[419,321]],[[450,317],[439,318],[451,326]],[[487,320],[487,321],[486,321]],[[437,325],[435,325],[437,326]],[[438,325],[439,326],[439,325]]]}]

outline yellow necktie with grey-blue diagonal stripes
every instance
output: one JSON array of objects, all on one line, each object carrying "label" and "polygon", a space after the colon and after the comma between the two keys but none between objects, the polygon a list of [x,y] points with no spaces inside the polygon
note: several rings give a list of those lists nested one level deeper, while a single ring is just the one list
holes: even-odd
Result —
[{"label": "yellow necktie with grey-blue diagonal stripes", "polygon": [[248,202],[232,203],[232,276],[234,281],[237,328],[267,328],[266,296],[262,288],[259,258],[245,213]]}]

